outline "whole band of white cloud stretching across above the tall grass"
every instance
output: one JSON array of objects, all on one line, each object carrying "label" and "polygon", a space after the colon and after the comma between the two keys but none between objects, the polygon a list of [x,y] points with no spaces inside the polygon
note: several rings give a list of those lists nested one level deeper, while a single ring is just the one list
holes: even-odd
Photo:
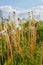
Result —
[{"label": "whole band of white cloud stretching across above the tall grass", "polygon": [[40,14],[40,18],[43,19],[43,6],[36,6],[33,7],[31,9],[20,9],[19,7],[15,7],[12,8],[11,6],[0,6],[0,10],[5,11],[5,13],[3,14],[3,16],[6,16],[6,13],[12,13],[13,11],[15,11],[17,13],[17,15],[24,15],[23,17],[26,17],[27,12],[33,10],[34,15],[36,15],[36,18],[39,16]]}]

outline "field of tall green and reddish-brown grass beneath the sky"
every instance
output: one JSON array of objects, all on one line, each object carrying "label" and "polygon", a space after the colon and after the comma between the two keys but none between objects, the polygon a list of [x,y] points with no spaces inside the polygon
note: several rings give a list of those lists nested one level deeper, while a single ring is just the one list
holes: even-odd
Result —
[{"label": "field of tall green and reddish-brown grass beneath the sky", "polygon": [[14,24],[0,23],[0,65],[43,65],[43,21]]}]

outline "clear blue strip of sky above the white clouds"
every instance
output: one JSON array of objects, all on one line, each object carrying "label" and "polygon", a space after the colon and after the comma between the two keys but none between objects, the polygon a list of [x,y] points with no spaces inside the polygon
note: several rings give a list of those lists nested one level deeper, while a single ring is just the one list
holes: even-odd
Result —
[{"label": "clear blue strip of sky above the white clouds", "polygon": [[42,6],[43,0],[0,0],[0,6],[10,5],[16,9],[29,9]]}]

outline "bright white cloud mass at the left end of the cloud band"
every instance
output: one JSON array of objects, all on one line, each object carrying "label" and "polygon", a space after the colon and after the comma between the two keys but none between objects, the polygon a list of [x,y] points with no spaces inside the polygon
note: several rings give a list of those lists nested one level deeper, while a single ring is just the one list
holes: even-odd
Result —
[{"label": "bright white cloud mass at the left end of the cloud band", "polygon": [[2,11],[1,16],[3,17],[8,17],[8,15],[11,15],[13,11],[16,12],[16,10],[12,8],[12,6],[0,6],[0,10]]}]

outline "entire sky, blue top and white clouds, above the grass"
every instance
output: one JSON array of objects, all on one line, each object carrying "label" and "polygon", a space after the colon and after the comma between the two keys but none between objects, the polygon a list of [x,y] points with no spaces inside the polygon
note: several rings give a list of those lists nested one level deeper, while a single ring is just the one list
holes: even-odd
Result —
[{"label": "entire sky, blue top and white clouds, above the grass", "polygon": [[43,19],[43,0],[0,0],[0,9],[5,11],[3,16],[6,16],[6,12],[8,14],[14,10],[21,16],[26,16],[28,10],[34,10],[35,15],[40,14]]}]

